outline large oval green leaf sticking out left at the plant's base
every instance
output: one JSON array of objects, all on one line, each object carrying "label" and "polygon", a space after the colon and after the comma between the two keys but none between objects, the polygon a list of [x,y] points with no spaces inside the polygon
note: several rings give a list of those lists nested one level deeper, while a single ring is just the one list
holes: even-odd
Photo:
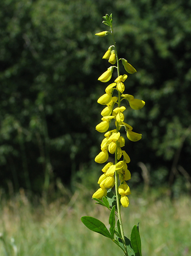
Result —
[{"label": "large oval green leaf sticking out left at the plant's base", "polygon": [[90,230],[112,239],[112,236],[110,235],[106,226],[100,220],[97,220],[97,219],[95,219],[93,217],[90,217],[90,216],[83,216],[83,217],[81,217],[81,221]]}]

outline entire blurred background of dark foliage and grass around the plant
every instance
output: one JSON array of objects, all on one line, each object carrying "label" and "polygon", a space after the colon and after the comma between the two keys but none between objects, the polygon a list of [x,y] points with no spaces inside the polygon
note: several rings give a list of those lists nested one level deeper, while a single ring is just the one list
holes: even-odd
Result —
[{"label": "entire blurred background of dark foliage and grass around the plant", "polygon": [[91,200],[102,168],[97,78],[112,44],[94,34],[106,13],[119,57],[138,71],[124,93],[146,102],[125,116],[142,134],[124,148],[126,235],[140,222],[143,256],[191,254],[190,12],[191,0],[0,1],[0,255],[118,252],[80,221],[108,218]]}]

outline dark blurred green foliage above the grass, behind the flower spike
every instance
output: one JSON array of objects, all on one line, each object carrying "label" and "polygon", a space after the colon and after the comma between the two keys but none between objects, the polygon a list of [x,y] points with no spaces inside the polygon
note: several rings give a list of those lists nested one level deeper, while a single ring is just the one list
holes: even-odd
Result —
[{"label": "dark blurred green foliage above the grass, behind the flower spike", "polygon": [[163,169],[159,183],[168,176],[173,183],[178,165],[189,173],[190,11],[191,0],[1,0],[0,185],[11,180],[16,190],[41,192],[58,177],[68,183],[84,165],[97,169],[104,93],[97,78],[112,42],[94,34],[105,30],[105,13],[113,13],[119,57],[138,71],[124,93],[146,102],[125,117],[143,135],[126,140],[129,170],[141,172],[138,161],[152,173]]}]

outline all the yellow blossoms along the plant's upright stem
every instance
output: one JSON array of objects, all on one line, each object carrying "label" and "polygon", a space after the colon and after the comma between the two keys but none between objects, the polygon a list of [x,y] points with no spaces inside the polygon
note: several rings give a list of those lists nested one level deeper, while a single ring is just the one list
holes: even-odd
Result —
[{"label": "all the yellow blossoms along the plant's upright stem", "polygon": [[[106,36],[110,32],[103,31],[97,33],[95,35],[98,36]],[[111,64],[115,64],[117,60],[117,64],[119,60],[122,61],[122,64],[125,70],[129,74],[133,74],[136,72],[136,69],[128,63],[126,59],[119,59],[117,56],[117,51],[115,46],[112,45],[108,48],[106,53],[103,56],[103,59],[108,59],[108,62]],[[107,83],[112,78],[113,68],[117,68],[116,66],[110,66],[99,78],[98,80]],[[118,187],[118,193],[121,195],[121,205],[123,207],[127,207],[129,205],[128,197],[130,189],[127,185],[126,181],[131,178],[131,173],[128,170],[127,164],[130,162],[130,158],[125,150],[121,148],[125,146],[125,139],[120,134],[121,127],[125,127],[125,131],[127,137],[131,141],[138,141],[141,139],[141,134],[133,132],[133,127],[129,124],[124,122],[125,116],[124,111],[126,110],[125,106],[120,106],[121,101],[126,99],[129,102],[129,106],[132,109],[138,110],[141,109],[145,102],[140,99],[134,99],[134,97],[130,94],[123,94],[125,91],[124,82],[128,78],[127,74],[119,75],[114,80],[113,83],[109,84],[105,89],[105,94],[103,94],[97,102],[102,105],[106,105],[105,108],[102,110],[101,115],[101,122],[95,127],[98,132],[106,132],[104,134],[105,138],[102,140],[101,143],[101,152],[95,157],[95,162],[97,163],[105,163],[108,160],[108,152],[110,154],[115,153],[115,164],[112,162],[108,162],[104,168],[102,169],[103,174],[100,176],[98,180],[98,184],[100,188],[93,194],[93,198],[102,199],[102,197],[106,197],[107,195],[107,188],[113,188],[115,185],[115,173],[118,173],[118,177],[120,179],[120,186]],[[113,96],[114,92],[117,92],[117,96]],[[115,104],[117,106],[114,108]],[[116,129],[109,130],[110,123],[115,122]],[[121,160],[123,157],[123,160]]]}]

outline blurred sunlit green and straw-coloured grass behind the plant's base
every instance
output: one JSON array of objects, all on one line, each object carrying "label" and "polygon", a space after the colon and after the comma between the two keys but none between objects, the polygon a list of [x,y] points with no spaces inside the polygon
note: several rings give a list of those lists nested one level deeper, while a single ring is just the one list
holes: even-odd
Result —
[{"label": "blurred sunlit green and straw-coloured grass behind the plant's base", "polygon": [[[83,192],[82,192],[83,191]],[[108,227],[109,211],[79,189],[65,203],[66,194],[52,203],[43,198],[30,203],[21,190],[0,206],[1,256],[111,256],[122,251],[110,239],[88,230],[81,216],[98,218]],[[142,256],[191,255],[191,198],[176,200],[150,191],[132,192],[122,209],[125,235],[139,224]],[[156,195],[155,195],[156,194]]]}]

